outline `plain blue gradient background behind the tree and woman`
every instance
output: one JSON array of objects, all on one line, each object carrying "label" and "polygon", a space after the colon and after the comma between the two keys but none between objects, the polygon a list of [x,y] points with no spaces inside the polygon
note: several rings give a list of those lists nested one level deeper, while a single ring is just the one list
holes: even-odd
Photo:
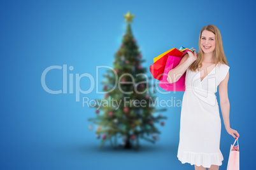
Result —
[{"label": "plain blue gradient background behind the tree and woman", "polygon": [[[72,65],[68,74],[96,76],[97,65],[112,66],[126,23],[123,15],[136,15],[132,32],[141,49],[143,67],[173,47],[194,47],[204,25],[213,24],[222,34],[229,66],[231,128],[240,134],[240,167],[255,162],[255,4],[253,1],[1,1],[1,169],[194,169],[176,157],[181,107],[168,107],[155,144],[116,150],[89,131],[87,119],[94,108],[83,107],[74,94],[51,95],[41,86],[41,74],[51,65]],[[99,72],[103,81],[104,70]],[[149,76],[150,72],[148,70]],[[51,89],[62,89],[62,71],[46,77]],[[82,89],[90,87],[82,79]],[[99,83],[99,89],[102,84]],[[96,89],[87,96],[103,98]],[[183,92],[157,94],[160,100],[182,100]],[[217,99],[219,96],[217,93]],[[220,115],[222,119],[222,115]],[[234,138],[222,119],[220,150],[227,168]]]}]

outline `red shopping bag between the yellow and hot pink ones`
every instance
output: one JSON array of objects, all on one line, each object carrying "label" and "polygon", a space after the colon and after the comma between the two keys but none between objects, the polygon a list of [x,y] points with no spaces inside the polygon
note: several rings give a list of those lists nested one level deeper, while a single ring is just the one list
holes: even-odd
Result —
[{"label": "red shopping bag between the yellow and hot pink ones", "polygon": [[[164,53],[163,53],[164,54]],[[150,72],[153,75],[153,77],[157,80],[162,80],[162,74],[164,72],[164,68],[166,67],[166,62],[169,55],[173,56],[181,56],[183,53],[180,52],[180,50],[173,48],[168,53],[164,54],[159,58],[156,62],[154,62],[152,65],[150,65]]]}]

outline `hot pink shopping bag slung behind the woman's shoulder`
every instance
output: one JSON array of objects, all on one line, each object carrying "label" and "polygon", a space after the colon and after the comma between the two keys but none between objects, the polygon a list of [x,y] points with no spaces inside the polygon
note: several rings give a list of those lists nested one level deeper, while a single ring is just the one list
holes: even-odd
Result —
[{"label": "hot pink shopping bag slung behind the woman's shoulder", "polygon": [[168,72],[171,69],[174,69],[181,61],[183,56],[187,53],[185,51],[180,57],[177,56],[168,56],[166,67],[164,68],[164,73],[162,75],[162,79],[159,82],[159,87],[165,89],[166,91],[185,91],[185,77],[186,72],[180,77],[180,79],[176,82],[169,83],[167,81]]}]

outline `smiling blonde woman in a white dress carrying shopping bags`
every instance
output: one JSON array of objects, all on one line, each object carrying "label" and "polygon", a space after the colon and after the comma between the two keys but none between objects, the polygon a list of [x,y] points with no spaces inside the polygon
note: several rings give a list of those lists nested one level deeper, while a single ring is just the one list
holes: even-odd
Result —
[{"label": "smiling blonde woman in a white dress carrying shopping bags", "polygon": [[186,72],[177,157],[183,164],[194,165],[196,170],[206,167],[215,170],[224,160],[220,152],[217,87],[225,129],[234,138],[239,138],[239,133],[229,124],[229,66],[218,28],[215,25],[204,26],[199,36],[199,53],[192,49],[194,53],[188,51],[179,65],[169,71],[167,78],[170,83],[176,82]]}]

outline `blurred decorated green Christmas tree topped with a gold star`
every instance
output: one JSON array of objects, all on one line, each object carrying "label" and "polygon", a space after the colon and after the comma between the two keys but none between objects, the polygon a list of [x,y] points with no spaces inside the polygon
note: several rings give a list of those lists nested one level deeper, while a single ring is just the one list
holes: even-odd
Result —
[{"label": "blurred decorated green Christmas tree topped with a gold star", "polygon": [[[134,148],[137,150],[139,138],[152,143],[158,140],[159,136],[156,134],[160,131],[155,124],[166,117],[162,115],[154,117],[153,113],[166,109],[152,107],[156,96],[152,95],[155,91],[148,82],[151,77],[148,78],[145,74],[148,67],[141,66],[145,60],[142,60],[141,51],[132,35],[131,22],[134,15],[128,12],[124,17],[127,27],[122,44],[115,54],[113,69],[107,71],[104,75],[106,81],[102,82],[103,91],[106,91],[104,95],[106,105],[95,105],[94,107],[99,108],[96,109],[97,116],[88,120],[98,126],[96,136],[101,139],[99,148],[106,141],[110,141],[111,146],[116,148],[118,138],[122,138],[121,146],[132,148],[134,143]],[[164,126],[163,121],[160,124]]]}]

